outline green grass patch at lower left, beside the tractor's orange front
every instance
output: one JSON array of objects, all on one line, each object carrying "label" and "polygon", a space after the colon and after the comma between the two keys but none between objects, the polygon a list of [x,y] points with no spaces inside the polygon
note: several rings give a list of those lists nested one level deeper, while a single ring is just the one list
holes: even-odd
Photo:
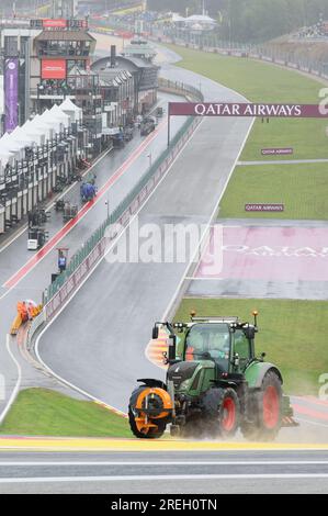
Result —
[{"label": "green grass patch at lower left, beside the tractor's orange front", "polygon": [[46,389],[19,393],[0,426],[1,435],[133,437],[127,420],[93,403]]}]

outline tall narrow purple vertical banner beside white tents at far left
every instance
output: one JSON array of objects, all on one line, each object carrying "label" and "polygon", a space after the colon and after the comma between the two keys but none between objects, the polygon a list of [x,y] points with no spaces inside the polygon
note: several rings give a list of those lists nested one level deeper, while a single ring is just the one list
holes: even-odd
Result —
[{"label": "tall narrow purple vertical banner beside white tents at far left", "polygon": [[19,59],[4,61],[4,132],[11,133],[19,125]]}]

